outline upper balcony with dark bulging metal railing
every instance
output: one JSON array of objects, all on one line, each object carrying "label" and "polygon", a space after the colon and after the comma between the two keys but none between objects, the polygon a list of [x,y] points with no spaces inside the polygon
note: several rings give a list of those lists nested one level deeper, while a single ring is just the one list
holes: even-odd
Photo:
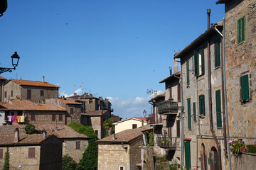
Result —
[{"label": "upper balcony with dark bulging metal railing", "polygon": [[177,114],[178,103],[174,101],[160,101],[157,103],[159,114]]}]

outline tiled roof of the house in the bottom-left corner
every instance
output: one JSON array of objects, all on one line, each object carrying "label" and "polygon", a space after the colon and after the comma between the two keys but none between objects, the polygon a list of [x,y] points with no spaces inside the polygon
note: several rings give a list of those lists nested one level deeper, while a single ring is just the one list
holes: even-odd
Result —
[{"label": "tiled roof of the house in the bottom-left corner", "polygon": [[43,134],[20,135],[20,140],[14,142],[14,135],[0,135],[0,145],[39,145],[48,137],[43,137]]}]

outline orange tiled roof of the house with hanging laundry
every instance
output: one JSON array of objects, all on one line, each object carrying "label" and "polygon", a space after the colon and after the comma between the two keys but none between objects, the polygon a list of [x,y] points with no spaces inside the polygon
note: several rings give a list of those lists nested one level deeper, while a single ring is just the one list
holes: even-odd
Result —
[{"label": "orange tiled roof of the house with hanging laundry", "polygon": [[66,111],[65,108],[56,106],[54,104],[43,104],[39,105],[27,100],[11,100],[10,103],[0,103],[1,110],[12,110],[12,111]]}]

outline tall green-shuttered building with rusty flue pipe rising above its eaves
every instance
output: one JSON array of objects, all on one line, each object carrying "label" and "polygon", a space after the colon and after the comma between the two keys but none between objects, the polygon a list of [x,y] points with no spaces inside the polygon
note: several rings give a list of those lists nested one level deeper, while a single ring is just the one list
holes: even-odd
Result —
[{"label": "tall green-shuttered building with rusty flue pipe rising above its eaves", "polygon": [[185,107],[181,120],[184,140],[181,162],[188,168],[221,169],[227,164],[223,140],[223,22],[213,26],[209,22],[210,18],[205,33],[174,55],[181,62],[181,96]]}]

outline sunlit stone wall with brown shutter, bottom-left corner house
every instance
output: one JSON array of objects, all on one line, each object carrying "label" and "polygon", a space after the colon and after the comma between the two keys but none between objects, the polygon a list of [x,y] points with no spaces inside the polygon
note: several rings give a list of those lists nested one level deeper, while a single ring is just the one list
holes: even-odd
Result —
[{"label": "sunlit stone wall with brown shutter, bottom-left corner house", "polygon": [[[40,146],[35,147],[35,158],[28,159],[28,146],[20,147],[9,147],[10,153],[10,169],[23,169],[23,170],[34,170],[39,169],[40,164]],[[6,152],[6,147],[1,147]],[[21,167],[19,167],[21,166]],[[4,159],[0,159],[0,169],[4,167]]]}]

